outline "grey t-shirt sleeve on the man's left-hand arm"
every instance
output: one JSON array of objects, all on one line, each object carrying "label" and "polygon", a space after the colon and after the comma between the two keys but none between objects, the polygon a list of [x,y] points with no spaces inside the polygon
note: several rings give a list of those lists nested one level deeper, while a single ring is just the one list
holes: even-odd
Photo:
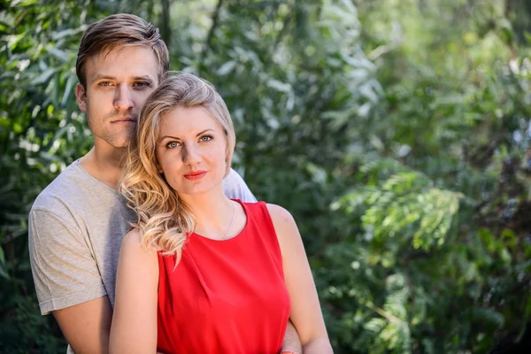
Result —
[{"label": "grey t-shirt sleeve on the man's left-hand arm", "polygon": [[107,295],[89,242],[73,220],[32,210],[29,258],[42,314]]}]

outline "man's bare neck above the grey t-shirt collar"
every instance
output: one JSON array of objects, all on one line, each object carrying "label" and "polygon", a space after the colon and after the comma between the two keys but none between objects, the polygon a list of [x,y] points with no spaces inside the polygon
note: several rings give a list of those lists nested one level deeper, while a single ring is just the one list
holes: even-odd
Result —
[{"label": "man's bare neck above the grey t-shirt collar", "polygon": [[95,145],[87,155],[80,159],[80,163],[96,180],[117,189],[126,154],[127,148]]}]

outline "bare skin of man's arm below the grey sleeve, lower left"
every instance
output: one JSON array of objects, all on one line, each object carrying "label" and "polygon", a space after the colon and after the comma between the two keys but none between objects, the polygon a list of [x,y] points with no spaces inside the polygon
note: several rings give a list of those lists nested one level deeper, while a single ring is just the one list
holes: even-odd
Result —
[{"label": "bare skin of man's arm below the grey sleeve, lower left", "polygon": [[51,313],[75,354],[109,352],[112,309],[107,296]]}]

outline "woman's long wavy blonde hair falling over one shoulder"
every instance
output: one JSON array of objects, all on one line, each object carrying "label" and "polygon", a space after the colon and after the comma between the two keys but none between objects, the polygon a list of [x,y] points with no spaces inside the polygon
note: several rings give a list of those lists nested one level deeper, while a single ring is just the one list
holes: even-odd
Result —
[{"label": "woman's long wavy blonde hair falling over one shoulder", "polygon": [[177,107],[202,107],[223,128],[227,177],[235,150],[235,128],[227,105],[208,81],[190,73],[168,73],[142,107],[136,136],[129,144],[119,192],[138,216],[132,226],[140,230],[142,247],[176,255],[179,262],[182,247],[196,228],[196,216],[158,172],[155,154],[160,122]]}]

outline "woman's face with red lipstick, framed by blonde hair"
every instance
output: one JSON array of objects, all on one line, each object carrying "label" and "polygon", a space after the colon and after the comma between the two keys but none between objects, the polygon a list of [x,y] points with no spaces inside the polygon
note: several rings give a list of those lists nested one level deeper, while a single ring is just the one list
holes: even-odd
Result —
[{"label": "woman's face with red lipstick, framed by blonde hair", "polygon": [[158,170],[181,196],[207,192],[227,171],[227,139],[219,122],[202,107],[177,107],[161,119]]}]

